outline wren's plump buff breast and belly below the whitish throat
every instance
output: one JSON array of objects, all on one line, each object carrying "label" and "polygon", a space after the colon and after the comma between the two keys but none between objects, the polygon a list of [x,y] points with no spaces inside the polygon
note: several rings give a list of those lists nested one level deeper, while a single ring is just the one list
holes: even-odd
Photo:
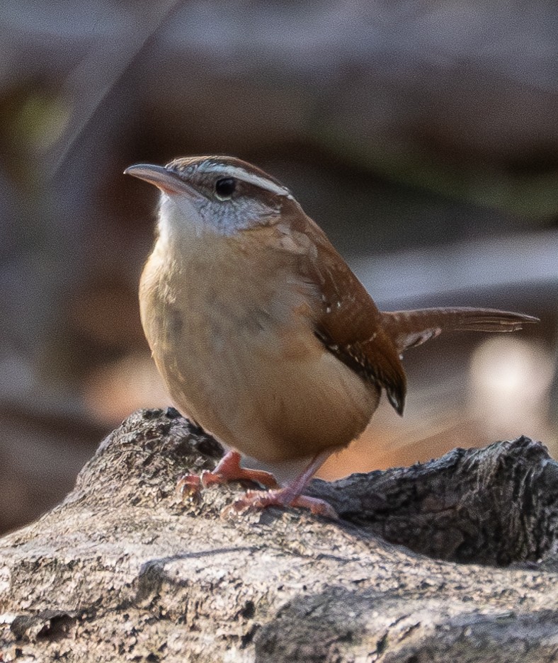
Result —
[{"label": "wren's plump buff breast and belly below the whitish throat", "polygon": [[142,324],[170,395],[254,458],[344,446],[368,423],[377,390],[317,339],[319,294],[290,257],[249,249],[220,237],[188,258],[156,249],[149,259]]}]

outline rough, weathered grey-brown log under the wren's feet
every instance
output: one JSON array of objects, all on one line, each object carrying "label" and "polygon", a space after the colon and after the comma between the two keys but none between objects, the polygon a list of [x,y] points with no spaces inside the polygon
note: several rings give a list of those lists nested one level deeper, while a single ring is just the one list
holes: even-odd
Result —
[{"label": "rough, weathered grey-brown log under the wren's feet", "polygon": [[540,443],[314,481],[339,522],[223,520],[239,485],[181,504],[178,476],[220,453],[173,409],[114,431],[63,504],[0,542],[0,660],[557,660],[558,465]]}]

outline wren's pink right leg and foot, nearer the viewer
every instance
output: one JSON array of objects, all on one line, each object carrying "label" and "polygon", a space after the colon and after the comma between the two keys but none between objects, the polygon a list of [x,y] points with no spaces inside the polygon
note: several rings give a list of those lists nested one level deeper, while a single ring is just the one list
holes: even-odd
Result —
[{"label": "wren's pink right leg and foot, nearer the viewer", "polygon": [[284,488],[273,490],[249,490],[244,497],[237,499],[234,504],[224,509],[224,515],[233,511],[241,513],[251,509],[265,509],[266,506],[300,506],[302,509],[309,509],[312,514],[319,514],[334,520],[338,519],[335,509],[331,504],[324,502],[317,497],[303,495],[304,488],[307,487],[314,474],[324,463],[324,460],[330,455],[331,451],[321,452],[312,458],[310,463],[304,467],[304,470],[298,477]]}]

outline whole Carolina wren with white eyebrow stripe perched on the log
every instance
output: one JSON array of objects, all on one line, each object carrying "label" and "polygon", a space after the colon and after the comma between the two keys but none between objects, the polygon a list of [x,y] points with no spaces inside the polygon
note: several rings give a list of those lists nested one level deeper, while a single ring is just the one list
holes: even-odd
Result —
[{"label": "whole Carolina wren with white eyebrow stripe perched on the log", "polygon": [[[176,407],[229,450],[214,472],[183,477],[183,492],[251,478],[270,489],[232,508],[307,506],[334,516],[304,487],[363,432],[382,390],[402,414],[407,348],[443,329],[537,322],[475,308],[379,311],[292,193],[239,159],[187,157],[125,173],[161,191],[139,285],[154,360]],[[241,467],[240,454],[259,470]]]}]

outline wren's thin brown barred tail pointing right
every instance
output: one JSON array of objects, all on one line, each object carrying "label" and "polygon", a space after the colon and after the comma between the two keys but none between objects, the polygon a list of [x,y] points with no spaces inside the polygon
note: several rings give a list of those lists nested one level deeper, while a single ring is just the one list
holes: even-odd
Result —
[{"label": "wren's thin brown barred tail pointing right", "polygon": [[532,315],[495,309],[455,307],[382,312],[382,325],[403,352],[433,339],[442,331],[517,331],[539,322]]}]

